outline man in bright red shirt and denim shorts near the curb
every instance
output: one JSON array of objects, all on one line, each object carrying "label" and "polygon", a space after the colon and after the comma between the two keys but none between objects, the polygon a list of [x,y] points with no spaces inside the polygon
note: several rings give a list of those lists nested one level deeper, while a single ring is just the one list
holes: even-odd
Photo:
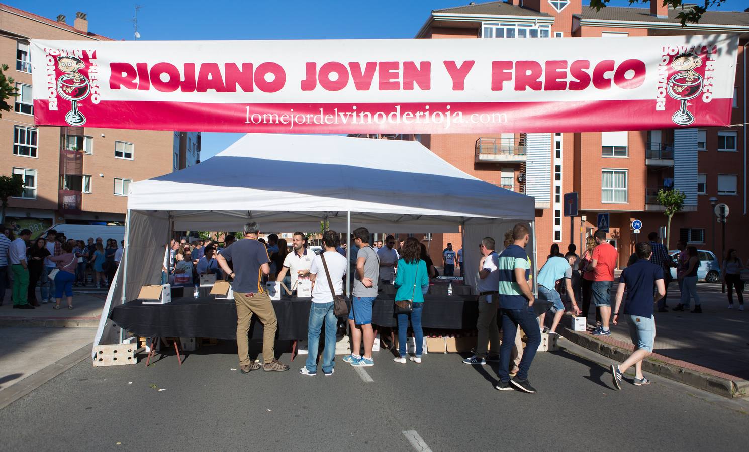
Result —
[{"label": "man in bright red shirt and denim shorts near the curb", "polygon": [[594,275],[592,296],[595,306],[601,309],[601,327],[594,329],[592,334],[610,336],[611,284],[613,284],[613,270],[616,269],[619,252],[606,240],[606,233],[603,230],[596,230],[594,237],[598,245],[593,248],[589,269],[592,269]]}]

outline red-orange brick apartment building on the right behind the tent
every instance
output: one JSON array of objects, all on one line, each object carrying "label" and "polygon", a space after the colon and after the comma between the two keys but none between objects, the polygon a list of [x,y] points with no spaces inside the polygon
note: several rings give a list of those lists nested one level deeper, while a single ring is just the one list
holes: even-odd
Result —
[{"label": "red-orange brick apartment building on the right behind the tent", "polygon": [[[698,25],[683,28],[678,10],[653,1],[646,7],[604,7],[596,11],[581,0],[509,0],[433,10],[417,38],[574,39],[574,37],[659,36],[735,33],[740,35],[732,124],[746,123],[746,45],[749,12],[708,11]],[[730,207],[727,248],[749,256],[742,239],[747,230],[747,148],[743,126],[651,131],[497,135],[418,135],[422,144],[468,174],[536,199],[539,264],[553,243],[566,251],[570,236],[580,241],[596,227],[598,213],[610,213],[610,240],[625,266],[634,243],[666,225],[655,194],[676,188],[686,195],[673,217],[670,247],[685,239],[697,248],[721,253],[721,225],[712,204]],[[562,197],[578,192],[581,217],[563,216]],[[585,219],[581,222],[581,219]],[[634,219],[643,222],[638,236]],[[499,237],[495,237],[500,239]],[[459,234],[432,234],[435,263],[447,242]],[[474,244],[467,244],[467,246]],[[458,248],[458,245],[455,245]]]}]

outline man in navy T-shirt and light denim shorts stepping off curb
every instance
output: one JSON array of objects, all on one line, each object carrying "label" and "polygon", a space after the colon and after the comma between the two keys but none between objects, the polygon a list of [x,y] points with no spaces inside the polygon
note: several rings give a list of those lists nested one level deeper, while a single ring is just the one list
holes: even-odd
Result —
[{"label": "man in navy T-shirt and light denim shorts stepping off curb", "polygon": [[[616,389],[622,388],[622,374],[634,365],[634,385],[649,385],[650,380],[643,375],[643,359],[653,351],[655,342],[655,317],[653,317],[653,302],[657,302],[666,294],[663,281],[663,267],[650,262],[652,248],[648,242],[639,242],[634,247],[638,260],[628,266],[619,277],[619,287],[616,290],[616,306],[614,307],[613,324],[619,321],[619,306],[622,305],[624,291],[627,291],[627,301],[624,304],[624,315],[629,323],[629,335],[634,343],[634,352],[622,364],[611,364],[611,378]],[[658,293],[653,297],[653,287]]]}]

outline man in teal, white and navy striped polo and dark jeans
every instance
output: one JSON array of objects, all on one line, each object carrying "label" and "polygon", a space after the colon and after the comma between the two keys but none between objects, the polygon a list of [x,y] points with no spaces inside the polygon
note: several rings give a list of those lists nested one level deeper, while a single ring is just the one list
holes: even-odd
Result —
[{"label": "man in teal, white and navy striped polo and dark jeans", "polygon": [[[525,246],[530,240],[530,230],[526,225],[518,223],[512,228],[512,245],[502,251],[497,263],[500,275],[500,300],[499,308],[502,322],[502,346],[500,346],[500,381],[495,388],[507,391],[518,388],[521,391],[533,394],[536,388],[528,381],[528,370],[530,363],[536,356],[536,350],[541,343],[541,332],[533,311],[533,292],[530,290],[528,279],[530,277],[530,262]],[[528,338],[527,346],[520,361],[520,370],[515,378],[510,379],[509,364],[512,344],[515,343],[515,335],[518,326]]]}]

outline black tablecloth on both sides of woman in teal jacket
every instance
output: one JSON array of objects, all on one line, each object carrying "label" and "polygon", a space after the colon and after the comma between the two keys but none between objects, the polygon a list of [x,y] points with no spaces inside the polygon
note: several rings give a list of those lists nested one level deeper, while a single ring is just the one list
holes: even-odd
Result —
[{"label": "black tablecloth on both sides of woman in teal jacket", "polygon": [[[372,307],[372,323],[378,326],[398,326],[394,314],[395,296],[382,295]],[[422,327],[437,329],[474,329],[479,317],[475,295],[424,296]]]}]

